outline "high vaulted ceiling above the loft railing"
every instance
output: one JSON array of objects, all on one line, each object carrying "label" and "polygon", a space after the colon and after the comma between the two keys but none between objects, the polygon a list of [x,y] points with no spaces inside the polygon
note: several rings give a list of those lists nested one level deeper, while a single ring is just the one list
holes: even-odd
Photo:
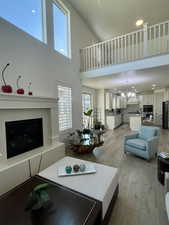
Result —
[{"label": "high vaulted ceiling above the loft railing", "polygon": [[69,0],[100,40],[136,30],[143,18],[149,24],[169,20],[169,0]]}]

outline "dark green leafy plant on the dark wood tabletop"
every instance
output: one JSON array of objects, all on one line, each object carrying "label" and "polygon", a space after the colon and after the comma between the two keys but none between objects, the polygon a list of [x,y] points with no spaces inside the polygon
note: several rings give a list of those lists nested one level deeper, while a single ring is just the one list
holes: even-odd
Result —
[{"label": "dark green leafy plant on the dark wood tabletop", "polygon": [[50,197],[46,190],[49,184],[39,184],[30,193],[25,211],[36,212],[41,209],[47,209],[50,205]]}]

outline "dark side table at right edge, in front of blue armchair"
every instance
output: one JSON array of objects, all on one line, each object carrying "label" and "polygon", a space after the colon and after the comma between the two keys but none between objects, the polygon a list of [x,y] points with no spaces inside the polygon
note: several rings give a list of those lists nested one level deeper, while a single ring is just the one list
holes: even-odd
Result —
[{"label": "dark side table at right edge, in front of blue armchair", "polygon": [[164,185],[165,172],[169,172],[169,159],[158,156],[158,180]]}]

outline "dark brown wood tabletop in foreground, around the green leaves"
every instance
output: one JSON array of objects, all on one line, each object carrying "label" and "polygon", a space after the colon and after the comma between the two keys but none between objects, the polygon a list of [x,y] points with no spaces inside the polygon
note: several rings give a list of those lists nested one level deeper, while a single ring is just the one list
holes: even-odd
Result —
[{"label": "dark brown wood tabletop in foreground, around the green leaves", "polygon": [[[25,212],[29,193],[41,183],[50,183],[51,208]],[[35,176],[0,197],[1,225],[101,225],[102,207],[97,200]]]}]

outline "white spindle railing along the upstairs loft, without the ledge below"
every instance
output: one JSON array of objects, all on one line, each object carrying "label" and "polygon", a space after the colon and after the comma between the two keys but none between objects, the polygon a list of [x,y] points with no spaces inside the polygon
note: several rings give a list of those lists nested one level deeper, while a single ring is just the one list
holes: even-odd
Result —
[{"label": "white spindle railing along the upstairs loft, without the ledge below", "polygon": [[169,52],[169,21],[80,50],[81,72]]}]

